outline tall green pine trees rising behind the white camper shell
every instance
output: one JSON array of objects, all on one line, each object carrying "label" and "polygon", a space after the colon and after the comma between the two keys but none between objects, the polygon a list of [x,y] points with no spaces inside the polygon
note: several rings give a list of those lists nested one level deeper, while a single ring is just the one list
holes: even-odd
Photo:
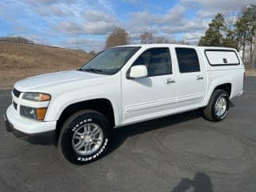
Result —
[{"label": "tall green pine trees rising behind the white camper shell", "polygon": [[[199,46],[225,46],[242,50],[242,61],[256,65],[256,5],[246,6],[237,15],[218,13],[200,39]],[[249,60],[246,60],[246,52]]]}]

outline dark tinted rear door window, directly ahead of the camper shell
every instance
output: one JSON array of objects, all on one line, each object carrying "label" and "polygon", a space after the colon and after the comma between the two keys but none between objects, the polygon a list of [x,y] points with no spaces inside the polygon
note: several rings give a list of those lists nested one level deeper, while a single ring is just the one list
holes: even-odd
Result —
[{"label": "dark tinted rear door window, directly ahead of the camper shell", "polygon": [[191,73],[200,71],[198,54],[191,48],[176,48],[178,68],[180,73]]}]

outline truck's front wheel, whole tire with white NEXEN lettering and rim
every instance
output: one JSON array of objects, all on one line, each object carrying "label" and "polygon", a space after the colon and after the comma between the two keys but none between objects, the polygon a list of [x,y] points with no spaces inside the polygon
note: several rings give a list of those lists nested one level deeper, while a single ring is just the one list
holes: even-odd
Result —
[{"label": "truck's front wheel, whole tire with white NEXEN lettering and rim", "polygon": [[66,120],[58,150],[69,162],[84,165],[101,158],[109,146],[110,122],[94,110],[82,110]]}]

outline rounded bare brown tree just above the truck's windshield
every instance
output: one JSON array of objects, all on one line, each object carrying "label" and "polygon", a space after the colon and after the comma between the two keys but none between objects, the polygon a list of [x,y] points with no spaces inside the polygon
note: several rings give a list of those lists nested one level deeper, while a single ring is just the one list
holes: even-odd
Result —
[{"label": "rounded bare brown tree just above the truck's windshield", "polygon": [[128,33],[121,27],[117,27],[114,31],[106,38],[106,48],[112,46],[122,46],[128,44]]}]

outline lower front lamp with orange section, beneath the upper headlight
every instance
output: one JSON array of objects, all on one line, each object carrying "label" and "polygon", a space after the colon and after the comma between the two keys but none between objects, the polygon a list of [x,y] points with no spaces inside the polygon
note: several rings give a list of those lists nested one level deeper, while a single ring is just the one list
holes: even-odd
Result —
[{"label": "lower front lamp with orange section, beneath the upper headlight", "polygon": [[21,106],[20,114],[26,118],[34,118],[36,120],[44,120],[47,108],[33,108],[30,106]]}]

